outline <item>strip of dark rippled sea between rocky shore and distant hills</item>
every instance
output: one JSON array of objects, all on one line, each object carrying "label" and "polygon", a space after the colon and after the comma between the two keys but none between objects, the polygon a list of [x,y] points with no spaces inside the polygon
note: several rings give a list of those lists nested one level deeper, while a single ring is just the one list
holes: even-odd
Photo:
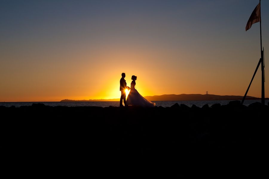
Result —
[{"label": "strip of dark rippled sea between rocky shore and distant hills", "polygon": [[[205,104],[208,104],[209,107],[211,107],[213,104],[229,104],[230,101],[233,100],[207,100],[207,101],[152,101],[155,103],[157,107],[162,106],[162,107],[171,107],[172,105],[178,103],[180,104],[185,104],[189,107],[192,107],[192,105],[196,105],[197,107],[203,107]],[[248,106],[252,103],[255,102],[261,102],[261,100],[245,100],[244,105]],[[265,100],[265,105],[268,105],[269,100]],[[5,106],[5,107],[21,107],[21,106],[31,106],[33,103],[42,103],[47,106],[98,106],[98,107],[109,107],[109,106],[114,106],[118,107],[119,106],[119,101],[71,101],[71,102],[0,102],[0,106]]]}]

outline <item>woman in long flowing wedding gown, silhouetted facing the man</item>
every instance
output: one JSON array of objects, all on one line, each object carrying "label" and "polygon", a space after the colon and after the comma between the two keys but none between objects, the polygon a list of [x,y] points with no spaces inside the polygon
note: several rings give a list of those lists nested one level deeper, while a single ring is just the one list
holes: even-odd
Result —
[{"label": "woman in long flowing wedding gown, silhouetted facing the man", "polygon": [[126,105],[132,105],[132,106],[141,106],[141,107],[154,107],[155,103],[152,103],[151,101],[146,100],[143,96],[139,94],[139,92],[135,89],[135,80],[137,76],[132,75],[132,82],[131,82],[131,88],[129,95],[126,100]]}]

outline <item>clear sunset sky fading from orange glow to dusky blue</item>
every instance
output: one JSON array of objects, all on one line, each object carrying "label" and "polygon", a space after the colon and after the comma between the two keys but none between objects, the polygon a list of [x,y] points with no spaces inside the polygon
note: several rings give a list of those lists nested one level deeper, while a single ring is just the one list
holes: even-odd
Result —
[{"label": "clear sunset sky fading from orange glow to dusky blue", "polygon": [[[244,96],[260,54],[259,0],[0,0],[0,102]],[[269,1],[261,1],[269,97]],[[247,95],[261,97],[261,66]]]}]

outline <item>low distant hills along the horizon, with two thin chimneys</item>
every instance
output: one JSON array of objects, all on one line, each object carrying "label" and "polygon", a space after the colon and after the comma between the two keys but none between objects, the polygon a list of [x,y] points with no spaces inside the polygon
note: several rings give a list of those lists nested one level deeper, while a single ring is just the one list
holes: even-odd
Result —
[{"label": "low distant hills along the horizon, with two thin chimneys", "polygon": [[[181,94],[181,95],[155,95],[155,96],[144,96],[149,101],[199,101],[199,100],[242,100],[243,96],[221,96],[221,95],[210,95],[210,94]],[[253,96],[246,96],[246,99],[260,99]],[[268,98],[266,98],[268,99]],[[117,99],[90,99],[90,100],[70,100],[64,99],[60,102],[70,102],[70,101],[120,101]]]}]

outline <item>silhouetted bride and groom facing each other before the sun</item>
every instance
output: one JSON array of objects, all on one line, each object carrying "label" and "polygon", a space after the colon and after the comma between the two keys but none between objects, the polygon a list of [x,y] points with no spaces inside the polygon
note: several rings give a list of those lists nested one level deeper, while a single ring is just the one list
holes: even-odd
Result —
[{"label": "silhouetted bride and groom facing each other before the sun", "polygon": [[[125,73],[121,74],[122,78],[120,79],[120,107],[123,107],[122,100],[125,106],[141,106],[141,107],[154,107],[155,103],[152,103],[151,101],[146,100],[142,95],[139,94],[139,92],[135,89],[135,81],[137,79],[137,76],[132,75],[132,82],[131,87],[128,87],[126,84]],[[126,100],[126,92],[125,90],[130,90],[129,95]]]}]

